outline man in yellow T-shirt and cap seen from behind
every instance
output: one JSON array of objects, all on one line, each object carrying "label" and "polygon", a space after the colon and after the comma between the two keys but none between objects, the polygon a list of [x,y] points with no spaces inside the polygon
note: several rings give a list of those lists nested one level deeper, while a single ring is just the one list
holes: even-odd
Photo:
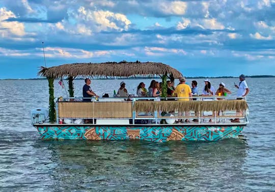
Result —
[{"label": "man in yellow T-shirt and cap seen from behind", "polygon": [[[189,85],[185,84],[185,77],[180,77],[179,81],[180,84],[178,84],[175,89],[175,95],[176,97],[181,98],[178,99],[179,101],[189,101],[188,97],[192,97],[191,88]],[[179,116],[181,116],[181,112],[179,112]],[[185,111],[185,116],[190,116],[189,111]],[[185,122],[189,122],[189,119],[186,119]]]}]

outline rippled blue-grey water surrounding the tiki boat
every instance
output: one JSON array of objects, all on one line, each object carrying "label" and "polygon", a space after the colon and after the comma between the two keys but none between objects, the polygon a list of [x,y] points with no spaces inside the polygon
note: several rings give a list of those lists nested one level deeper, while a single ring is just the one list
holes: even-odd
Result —
[{"label": "rippled blue-grey water surrounding the tiki boat", "polygon": [[[99,95],[111,94],[120,81],[93,80],[92,88]],[[124,81],[134,93],[141,80]],[[201,90],[203,79],[197,81]],[[236,93],[237,78],[213,79],[212,84],[217,88],[221,81]],[[275,190],[275,78],[246,81],[251,90],[246,140],[149,143],[42,141],[30,111],[47,107],[47,81],[2,80],[0,191]],[[150,80],[144,82],[148,87]],[[83,84],[74,82],[76,97]],[[55,86],[59,96],[58,81]]]}]

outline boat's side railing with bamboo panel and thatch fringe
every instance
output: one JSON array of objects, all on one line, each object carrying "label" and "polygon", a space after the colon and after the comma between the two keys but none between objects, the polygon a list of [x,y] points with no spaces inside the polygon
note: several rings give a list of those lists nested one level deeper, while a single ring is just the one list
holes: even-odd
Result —
[{"label": "boat's side railing with bamboo panel and thatch fringe", "polygon": [[67,121],[71,123],[75,119],[90,119],[93,124],[108,121],[118,124],[173,124],[180,120],[195,124],[232,124],[232,119],[240,120],[233,123],[248,123],[245,97],[60,98],[56,111],[57,123],[64,123],[66,119],[71,119]]}]

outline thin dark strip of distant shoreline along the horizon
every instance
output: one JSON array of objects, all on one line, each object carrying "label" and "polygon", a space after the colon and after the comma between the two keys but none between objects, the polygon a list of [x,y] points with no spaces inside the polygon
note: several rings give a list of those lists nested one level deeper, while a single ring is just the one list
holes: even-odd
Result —
[{"label": "thin dark strip of distant shoreline along the horizon", "polygon": [[[272,78],[275,77],[274,75],[251,75],[251,76],[245,76],[247,78]],[[107,79],[154,79],[154,78],[159,78],[159,77],[129,77],[129,78],[107,78]],[[218,78],[238,78],[238,77],[233,77],[233,76],[221,76],[221,77],[186,77],[186,79],[218,79]],[[0,79],[0,80],[46,80],[47,78],[26,78],[26,79]],[[66,79],[66,78],[65,78]],[[65,80],[64,79],[64,80]],[[83,78],[76,78],[77,79],[83,79]],[[95,78],[95,79],[106,79],[106,78]]]}]

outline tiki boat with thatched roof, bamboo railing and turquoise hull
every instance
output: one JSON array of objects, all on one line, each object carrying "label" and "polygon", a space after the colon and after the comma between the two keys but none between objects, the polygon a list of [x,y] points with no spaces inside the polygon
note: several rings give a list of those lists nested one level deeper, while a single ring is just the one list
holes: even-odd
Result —
[{"label": "tiki boat with thatched roof, bamboo railing and turquoise hull", "polygon": [[[161,98],[92,98],[91,102],[82,102],[83,98],[73,95],[75,77],[160,76],[162,90],[167,90],[167,79],[174,81],[182,74],[163,63],[73,63],[41,67],[38,74],[46,77],[49,84],[49,109],[32,110],[32,124],[42,139],[217,141],[238,138],[248,124],[245,98],[198,96],[178,101],[179,98],[167,99],[166,91],[162,91]],[[67,78],[69,98],[54,99],[53,80],[57,78]],[[182,111],[190,114],[180,115]],[[240,122],[231,122],[234,118]],[[90,123],[84,123],[84,119],[90,119]]]}]

